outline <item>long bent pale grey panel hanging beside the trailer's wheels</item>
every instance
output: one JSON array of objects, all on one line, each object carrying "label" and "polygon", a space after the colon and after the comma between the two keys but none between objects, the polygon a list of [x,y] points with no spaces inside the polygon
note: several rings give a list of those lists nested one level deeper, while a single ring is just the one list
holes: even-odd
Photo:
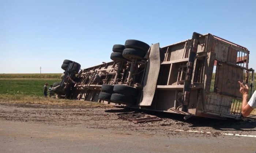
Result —
[{"label": "long bent pale grey panel hanging beside the trailer's wheels", "polygon": [[145,78],[143,81],[142,101],[140,102],[140,106],[151,106],[157,87],[160,62],[159,43],[153,44],[150,49]]}]

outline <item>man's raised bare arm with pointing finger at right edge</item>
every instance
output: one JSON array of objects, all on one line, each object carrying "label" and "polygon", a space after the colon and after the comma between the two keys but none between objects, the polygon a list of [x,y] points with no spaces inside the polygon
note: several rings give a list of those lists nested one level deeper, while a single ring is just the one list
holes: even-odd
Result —
[{"label": "man's raised bare arm with pointing finger at right edge", "polygon": [[[248,91],[249,91],[249,87],[247,85],[243,85],[243,83],[241,83],[240,81],[238,81],[238,83],[240,84],[240,92],[243,95],[243,100],[242,100],[242,115],[244,117],[250,115],[250,113],[252,112],[253,108],[248,105],[247,103],[247,99],[248,99]],[[255,97],[255,93],[253,93],[252,98]],[[252,99],[254,100],[254,99]]]}]

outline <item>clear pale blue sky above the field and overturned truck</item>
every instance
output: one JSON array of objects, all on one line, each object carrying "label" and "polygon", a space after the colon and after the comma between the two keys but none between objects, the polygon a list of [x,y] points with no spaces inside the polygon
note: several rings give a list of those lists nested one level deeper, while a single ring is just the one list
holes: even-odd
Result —
[{"label": "clear pale blue sky above the field and overturned truck", "polygon": [[166,46],[211,33],[247,47],[256,69],[255,0],[0,0],[0,73],[59,73],[110,62],[113,44]]}]

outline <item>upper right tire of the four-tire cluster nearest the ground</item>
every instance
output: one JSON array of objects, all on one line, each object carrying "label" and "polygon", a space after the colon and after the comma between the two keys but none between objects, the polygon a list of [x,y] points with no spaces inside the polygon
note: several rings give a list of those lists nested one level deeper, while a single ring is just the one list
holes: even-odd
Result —
[{"label": "upper right tire of the four-tire cluster nearest the ground", "polygon": [[127,85],[114,85],[113,88],[114,93],[137,97],[138,90],[134,87],[127,86]]}]

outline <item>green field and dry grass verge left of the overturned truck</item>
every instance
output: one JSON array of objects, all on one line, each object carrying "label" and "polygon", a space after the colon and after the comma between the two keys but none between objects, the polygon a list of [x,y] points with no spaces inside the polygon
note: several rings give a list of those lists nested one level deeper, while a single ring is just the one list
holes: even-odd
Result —
[{"label": "green field and dry grass verge left of the overturned truck", "polygon": [[[52,99],[43,97],[43,86],[45,82],[52,85],[60,82],[61,79],[54,78],[0,78],[0,102],[32,103],[46,105],[68,105],[68,106],[89,106],[89,107],[110,107],[101,103],[77,101],[70,99]],[[48,86],[49,88],[50,86]]]}]

